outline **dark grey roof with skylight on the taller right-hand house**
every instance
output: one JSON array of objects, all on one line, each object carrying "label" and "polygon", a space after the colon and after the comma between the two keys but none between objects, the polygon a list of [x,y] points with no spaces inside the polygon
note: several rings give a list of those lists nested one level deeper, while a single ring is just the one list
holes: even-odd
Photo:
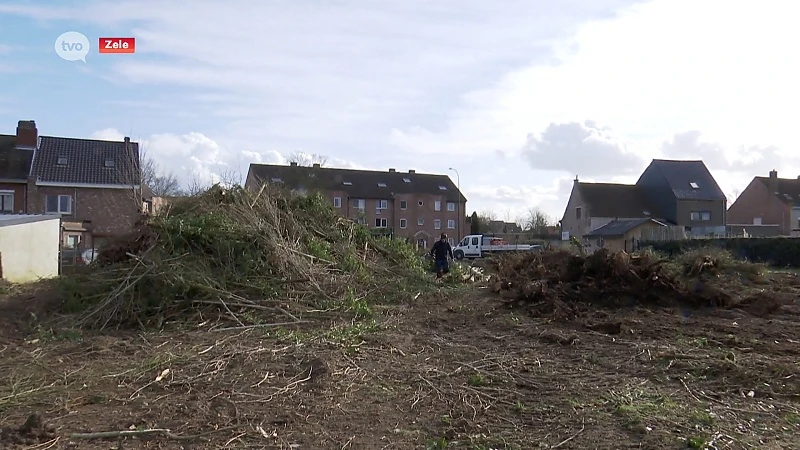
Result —
[{"label": "dark grey roof with skylight on the taller right-hand house", "polygon": [[678,200],[727,199],[703,161],[654,159],[650,168],[661,172]]}]

